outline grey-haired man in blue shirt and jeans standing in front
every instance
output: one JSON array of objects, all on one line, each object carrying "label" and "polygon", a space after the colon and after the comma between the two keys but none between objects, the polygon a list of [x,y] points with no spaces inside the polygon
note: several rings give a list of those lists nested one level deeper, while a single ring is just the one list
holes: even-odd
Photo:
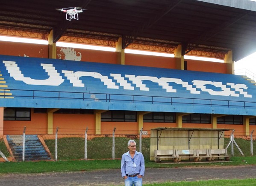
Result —
[{"label": "grey-haired man in blue shirt and jeans standing in front", "polygon": [[125,186],[142,186],[142,176],[145,172],[144,157],[136,151],[136,142],[128,141],[129,151],[124,153],[121,161],[121,173]]}]

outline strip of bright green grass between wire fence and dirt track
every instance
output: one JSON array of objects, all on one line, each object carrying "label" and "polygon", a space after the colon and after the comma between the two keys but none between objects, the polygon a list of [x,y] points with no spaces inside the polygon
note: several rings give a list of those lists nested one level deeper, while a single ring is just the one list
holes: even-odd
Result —
[{"label": "strip of bright green grass between wire fence and dirt track", "polygon": [[[145,160],[146,168],[175,168],[183,166],[237,166],[256,165],[256,157],[231,157],[230,161],[212,163],[155,163]],[[0,163],[0,173],[40,173],[120,169],[121,160],[59,160]]]}]

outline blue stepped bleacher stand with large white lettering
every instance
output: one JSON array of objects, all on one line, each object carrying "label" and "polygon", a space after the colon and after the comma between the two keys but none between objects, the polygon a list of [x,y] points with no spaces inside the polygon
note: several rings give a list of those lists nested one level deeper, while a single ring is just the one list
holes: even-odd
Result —
[{"label": "blue stepped bleacher stand with large white lettering", "polygon": [[212,113],[214,107],[218,113],[216,108],[256,105],[255,83],[241,75],[11,56],[0,56],[0,73],[2,89],[14,100],[28,100],[27,107],[49,108],[45,100],[51,100],[53,108],[199,112],[203,107]]}]

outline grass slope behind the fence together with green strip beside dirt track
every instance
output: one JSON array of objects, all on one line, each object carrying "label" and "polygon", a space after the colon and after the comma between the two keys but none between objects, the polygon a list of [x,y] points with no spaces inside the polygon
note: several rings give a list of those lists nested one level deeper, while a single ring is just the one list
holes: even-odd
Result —
[{"label": "grass slope behind the fence together with green strip beside dirt track", "polygon": [[[225,139],[225,146],[229,143],[229,138]],[[250,156],[250,141],[235,139],[238,146],[244,152],[246,157],[242,157],[238,149],[234,147],[234,157],[230,161],[221,163],[155,163],[150,161],[150,138],[142,139],[142,152],[145,157],[146,168],[164,168],[164,167],[181,167],[181,166],[237,166],[237,165],[256,165],[256,156]],[[54,156],[55,140],[45,140],[50,152]],[[120,169],[121,156],[127,152],[127,138],[115,138],[115,160],[112,160],[112,137],[99,137],[88,140],[87,151],[88,159],[84,158],[84,139],[79,137],[60,138],[58,140],[58,161],[25,161],[25,162],[5,162],[0,163],[0,173],[39,173],[53,171],[82,171],[95,169]],[[138,143],[138,142],[137,142]],[[254,141],[253,148],[256,149]],[[6,146],[3,140],[0,140],[0,149],[7,155]],[[229,147],[230,151],[231,147]],[[231,152],[229,152],[231,155]],[[103,160],[105,159],[105,160]],[[109,159],[109,160],[106,160]]]}]

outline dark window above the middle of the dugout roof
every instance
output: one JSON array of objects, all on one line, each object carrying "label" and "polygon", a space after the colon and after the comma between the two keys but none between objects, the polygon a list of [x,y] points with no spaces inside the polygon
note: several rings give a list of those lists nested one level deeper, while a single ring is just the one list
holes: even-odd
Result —
[{"label": "dark window above the middle of the dugout roof", "polygon": [[182,116],[182,123],[211,123],[211,114],[189,114]]}]

